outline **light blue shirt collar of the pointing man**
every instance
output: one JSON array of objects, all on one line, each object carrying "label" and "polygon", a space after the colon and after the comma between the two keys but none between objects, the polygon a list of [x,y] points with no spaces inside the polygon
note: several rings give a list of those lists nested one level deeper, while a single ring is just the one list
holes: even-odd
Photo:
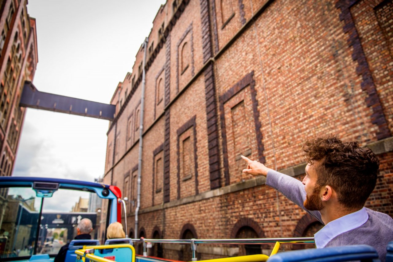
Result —
[{"label": "light blue shirt collar of the pointing man", "polygon": [[368,220],[366,209],[362,209],[337,218],[327,223],[320,231],[314,234],[315,245],[317,248],[325,247],[330,240],[357,227],[360,227]]}]

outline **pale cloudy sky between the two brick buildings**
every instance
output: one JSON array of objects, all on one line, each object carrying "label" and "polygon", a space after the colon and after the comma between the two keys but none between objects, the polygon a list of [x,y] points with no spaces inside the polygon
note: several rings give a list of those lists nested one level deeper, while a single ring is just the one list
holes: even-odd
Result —
[{"label": "pale cloudy sky between the two brick buildings", "polygon": [[[33,84],[42,92],[109,103],[164,3],[29,0],[39,59]],[[102,177],[108,125],[108,120],[27,109],[13,175]]]}]

